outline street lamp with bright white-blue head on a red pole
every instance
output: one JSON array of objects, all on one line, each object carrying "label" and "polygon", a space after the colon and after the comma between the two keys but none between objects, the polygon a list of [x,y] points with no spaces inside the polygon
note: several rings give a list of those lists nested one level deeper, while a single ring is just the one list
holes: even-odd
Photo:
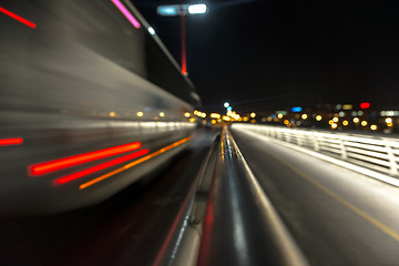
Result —
[{"label": "street lamp with bright white-blue head on a red pole", "polygon": [[160,6],[156,9],[157,14],[166,17],[181,17],[181,38],[182,38],[182,74],[187,75],[186,66],[186,41],[185,41],[185,16],[186,14],[203,14],[206,13],[207,8],[205,3],[196,4],[168,4]]}]

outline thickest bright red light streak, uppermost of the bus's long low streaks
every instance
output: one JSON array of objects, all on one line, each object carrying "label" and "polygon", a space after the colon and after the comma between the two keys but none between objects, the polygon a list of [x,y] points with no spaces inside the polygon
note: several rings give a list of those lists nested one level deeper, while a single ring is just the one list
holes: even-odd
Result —
[{"label": "thickest bright red light streak, uppermost of the bus's long low streaks", "polygon": [[53,173],[66,167],[71,167],[79,164],[89,163],[95,160],[110,157],[125,152],[139,150],[141,147],[140,142],[127,143],[114,147],[103,149],[94,152],[78,154],[69,157],[58,158],[44,163],[33,164],[29,166],[30,175],[43,175]]}]

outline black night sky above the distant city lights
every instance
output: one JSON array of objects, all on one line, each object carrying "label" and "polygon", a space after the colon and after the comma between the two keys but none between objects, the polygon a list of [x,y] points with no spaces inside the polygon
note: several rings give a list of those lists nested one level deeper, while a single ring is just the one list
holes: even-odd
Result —
[{"label": "black night sky above the distant city lights", "polygon": [[[133,0],[178,63],[180,18],[158,17],[156,6],[181,2]],[[397,1],[204,2],[205,16],[186,18],[187,71],[204,110],[224,101],[238,112],[361,101],[399,109]]]}]

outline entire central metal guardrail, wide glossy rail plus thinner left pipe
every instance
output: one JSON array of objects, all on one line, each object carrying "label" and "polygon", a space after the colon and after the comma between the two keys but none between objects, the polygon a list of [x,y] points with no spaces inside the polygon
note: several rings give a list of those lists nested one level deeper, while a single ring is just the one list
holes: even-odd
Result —
[{"label": "entire central metal guardrail, wide glossy rail plus thinner left pipe", "polygon": [[154,263],[308,265],[225,127]]}]

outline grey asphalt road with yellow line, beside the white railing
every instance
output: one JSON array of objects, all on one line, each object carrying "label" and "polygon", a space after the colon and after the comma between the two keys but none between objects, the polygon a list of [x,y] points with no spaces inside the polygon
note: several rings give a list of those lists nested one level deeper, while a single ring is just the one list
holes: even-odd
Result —
[{"label": "grey asphalt road with yellow line, beside the white railing", "polygon": [[399,188],[233,130],[310,265],[399,265]]}]

